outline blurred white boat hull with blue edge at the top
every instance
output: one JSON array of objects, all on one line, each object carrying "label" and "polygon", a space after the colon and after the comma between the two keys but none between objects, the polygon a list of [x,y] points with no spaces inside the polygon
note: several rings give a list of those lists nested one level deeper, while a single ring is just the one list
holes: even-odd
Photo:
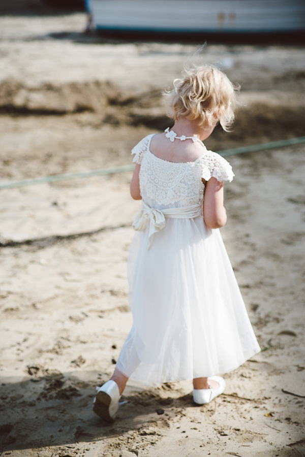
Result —
[{"label": "blurred white boat hull with blue edge at the top", "polygon": [[97,30],[264,33],[305,30],[304,0],[85,0]]}]

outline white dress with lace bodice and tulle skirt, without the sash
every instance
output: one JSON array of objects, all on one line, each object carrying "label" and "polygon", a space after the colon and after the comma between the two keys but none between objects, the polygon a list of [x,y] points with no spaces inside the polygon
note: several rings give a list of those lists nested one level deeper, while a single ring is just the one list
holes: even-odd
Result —
[{"label": "white dress with lace bodice and tulle skirt, without the sash", "polygon": [[[152,137],[132,150],[150,208],[202,204],[202,178],[232,181],[219,154],[204,148],[194,162],[169,162],[150,152]],[[226,373],[259,352],[219,229],[199,216],[166,219],[150,240],[148,232],[136,232],[130,248],[133,327],[116,368],[154,385]]]}]

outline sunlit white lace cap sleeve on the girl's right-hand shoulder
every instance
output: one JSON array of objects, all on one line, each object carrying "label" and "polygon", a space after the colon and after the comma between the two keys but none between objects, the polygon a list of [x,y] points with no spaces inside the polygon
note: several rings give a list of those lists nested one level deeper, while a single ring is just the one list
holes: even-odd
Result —
[{"label": "sunlit white lace cap sleeve on the girl's right-hand shoulder", "polygon": [[208,181],[210,178],[216,178],[219,182],[232,181],[235,176],[229,162],[213,151],[207,151],[200,160],[202,178]]}]

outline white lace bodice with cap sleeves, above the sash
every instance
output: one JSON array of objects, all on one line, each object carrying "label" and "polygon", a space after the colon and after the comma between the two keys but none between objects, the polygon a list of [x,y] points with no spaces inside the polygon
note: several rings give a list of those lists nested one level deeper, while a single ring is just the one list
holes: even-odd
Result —
[{"label": "white lace bodice with cap sleeves, above the sash", "polygon": [[194,162],[170,162],[149,150],[154,134],[143,138],[132,150],[133,161],[141,165],[139,179],[142,198],[162,206],[189,206],[203,201],[204,184],[215,177],[218,181],[232,181],[229,162],[216,152],[208,151]]}]

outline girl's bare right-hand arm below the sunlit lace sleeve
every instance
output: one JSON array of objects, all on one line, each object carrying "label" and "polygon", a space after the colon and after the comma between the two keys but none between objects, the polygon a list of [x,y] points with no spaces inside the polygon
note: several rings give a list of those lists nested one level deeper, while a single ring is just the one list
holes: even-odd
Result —
[{"label": "girl's bare right-hand arm below the sunlit lace sleeve", "polygon": [[227,212],[224,207],[224,182],[211,178],[204,190],[203,218],[209,228],[220,228],[227,222]]}]

